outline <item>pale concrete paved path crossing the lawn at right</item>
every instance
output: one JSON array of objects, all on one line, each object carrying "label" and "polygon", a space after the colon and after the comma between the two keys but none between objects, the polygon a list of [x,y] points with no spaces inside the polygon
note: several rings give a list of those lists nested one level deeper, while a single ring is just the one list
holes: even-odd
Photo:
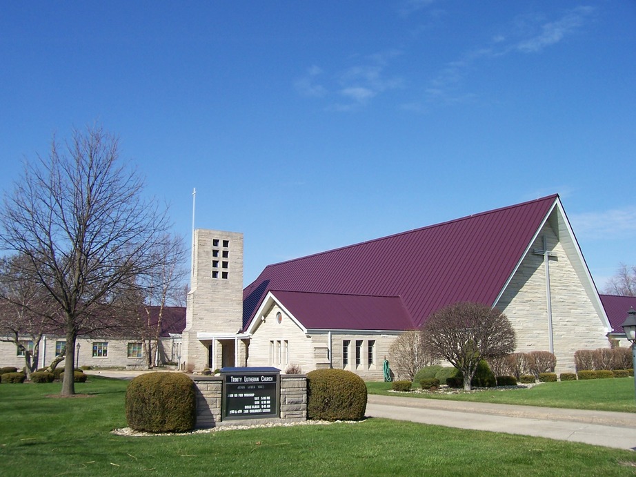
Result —
[{"label": "pale concrete paved path crossing the lawn at right", "polygon": [[496,405],[370,394],[366,415],[636,449],[636,413]]}]

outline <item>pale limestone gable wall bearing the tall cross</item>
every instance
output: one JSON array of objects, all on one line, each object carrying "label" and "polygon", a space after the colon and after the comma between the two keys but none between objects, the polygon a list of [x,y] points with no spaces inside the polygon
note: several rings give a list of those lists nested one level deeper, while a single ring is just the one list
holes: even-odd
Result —
[{"label": "pale limestone gable wall bearing the tall cross", "polygon": [[550,257],[550,295],[553,315],[553,343],[557,373],[574,371],[577,349],[609,347],[607,330],[575,271],[571,257],[559,242],[550,224],[546,224],[524,258],[497,307],[517,332],[517,352],[549,351],[544,257],[534,249],[543,249],[542,235],[548,239]]}]

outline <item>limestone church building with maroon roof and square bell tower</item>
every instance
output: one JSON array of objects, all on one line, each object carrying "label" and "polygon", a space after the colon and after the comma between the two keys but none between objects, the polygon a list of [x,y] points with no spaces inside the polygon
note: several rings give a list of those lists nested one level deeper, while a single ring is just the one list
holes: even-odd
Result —
[{"label": "limestone church building with maroon roof and square bell tower", "polygon": [[550,195],[267,266],[242,288],[243,236],[197,229],[186,369],[291,364],[381,380],[404,331],[455,302],[503,311],[516,351],[608,347],[608,320],[561,199]]}]

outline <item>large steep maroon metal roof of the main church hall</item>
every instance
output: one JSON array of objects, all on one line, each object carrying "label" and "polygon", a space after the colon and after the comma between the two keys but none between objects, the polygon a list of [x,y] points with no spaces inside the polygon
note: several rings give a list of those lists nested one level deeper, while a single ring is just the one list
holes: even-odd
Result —
[{"label": "large steep maroon metal roof of the main church hall", "polygon": [[[447,304],[492,305],[557,199],[550,195],[269,265],[244,289],[244,327],[270,290],[399,296],[415,327]],[[296,318],[325,319],[319,308]],[[345,320],[339,328],[354,329],[350,324]]]}]

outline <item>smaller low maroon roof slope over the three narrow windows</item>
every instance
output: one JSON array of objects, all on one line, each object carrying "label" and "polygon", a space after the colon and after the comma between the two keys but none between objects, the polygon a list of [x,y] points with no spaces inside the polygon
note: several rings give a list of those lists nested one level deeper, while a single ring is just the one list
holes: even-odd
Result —
[{"label": "smaller low maroon roof slope over the three narrow windows", "polygon": [[309,329],[399,331],[413,328],[399,297],[276,290],[272,290],[272,295]]}]

